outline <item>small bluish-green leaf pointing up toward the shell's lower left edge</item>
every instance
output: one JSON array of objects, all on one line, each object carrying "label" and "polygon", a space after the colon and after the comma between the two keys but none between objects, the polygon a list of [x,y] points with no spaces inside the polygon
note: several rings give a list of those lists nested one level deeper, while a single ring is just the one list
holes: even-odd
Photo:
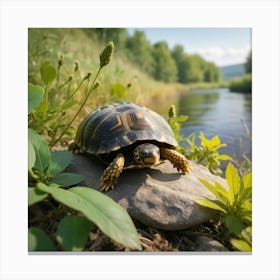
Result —
[{"label": "small bluish-green leaf pointing up toward the shell's lower left edge", "polygon": [[59,151],[51,153],[51,162],[48,171],[51,176],[56,176],[69,165],[72,159],[72,152]]}]

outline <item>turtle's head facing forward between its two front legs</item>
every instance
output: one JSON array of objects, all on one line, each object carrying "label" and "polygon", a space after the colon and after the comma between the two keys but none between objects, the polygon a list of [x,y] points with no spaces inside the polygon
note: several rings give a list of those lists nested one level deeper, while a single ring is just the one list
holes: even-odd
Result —
[{"label": "turtle's head facing forward between its two front legs", "polygon": [[155,165],[160,161],[159,147],[145,143],[134,149],[134,159],[142,165]]}]

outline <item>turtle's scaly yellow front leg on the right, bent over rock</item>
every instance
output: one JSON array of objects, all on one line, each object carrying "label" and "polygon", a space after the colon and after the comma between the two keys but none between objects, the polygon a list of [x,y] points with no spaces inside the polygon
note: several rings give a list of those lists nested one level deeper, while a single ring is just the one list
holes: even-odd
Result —
[{"label": "turtle's scaly yellow front leg on the right, bent over rock", "polygon": [[172,149],[161,148],[160,157],[162,159],[168,159],[178,171],[182,170],[184,174],[190,173],[190,167],[187,159],[179,152]]}]

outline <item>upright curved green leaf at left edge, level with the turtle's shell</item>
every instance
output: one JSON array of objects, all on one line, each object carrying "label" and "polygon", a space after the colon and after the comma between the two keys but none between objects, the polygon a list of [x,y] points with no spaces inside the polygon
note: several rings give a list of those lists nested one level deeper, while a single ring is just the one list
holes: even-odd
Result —
[{"label": "upright curved green leaf at left edge, level with the turtle's shell", "polygon": [[45,172],[50,164],[50,151],[47,142],[37,132],[28,128],[28,141],[32,143],[35,154],[35,168]]}]

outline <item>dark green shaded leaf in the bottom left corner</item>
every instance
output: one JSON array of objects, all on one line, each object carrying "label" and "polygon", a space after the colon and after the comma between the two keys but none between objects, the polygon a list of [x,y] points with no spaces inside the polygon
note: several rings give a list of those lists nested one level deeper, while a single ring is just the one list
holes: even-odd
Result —
[{"label": "dark green shaded leaf in the bottom left corner", "polygon": [[41,229],[28,229],[28,251],[56,251],[50,237]]}]

